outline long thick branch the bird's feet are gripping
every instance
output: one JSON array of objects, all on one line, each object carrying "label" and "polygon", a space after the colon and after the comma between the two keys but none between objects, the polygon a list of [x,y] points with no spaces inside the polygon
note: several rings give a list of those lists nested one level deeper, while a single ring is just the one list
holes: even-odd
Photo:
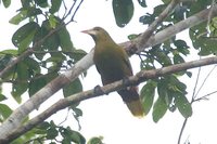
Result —
[{"label": "long thick branch the bird's feet are gripping", "polygon": [[[187,62],[182,64],[177,64],[177,65],[171,65],[167,67],[163,67],[159,69],[153,69],[153,70],[142,70],[138,73],[136,76],[132,76],[129,78],[129,81],[127,84],[123,83],[123,80],[113,82],[111,84],[102,87],[102,91],[104,93],[110,93],[117,91],[122,88],[132,86],[132,84],[139,84],[148,79],[155,79],[157,77],[162,77],[165,75],[187,70],[190,68],[195,68],[200,66],[205,66],[205,65],[212,65],[212,64],[217,64],[217,56],[208,57],[208,58],[203,58],[199,61],[192,61],[192,62]],[[9,143],[13,141],[14,139],[18,138],[20,135],[24,134],[25,132],[29,131],[34,127],[36,127],[38,123],[41,121],[46,120],[48,117],[56,113],[58,110],[61,110],[63,108],[66,108],[67,106],[81,102],[88,99],[97,97],[102,94],[94,93],[94,90],[89,90],[85,92],[80,92],[77,94],[74,94],[72,96],[68,96],[66,99],[62,99],[55,104],[53,104],[51,107],[49,107],[47,110],[38,115],[37,117],[30,119],[28,122],[26,122],[24,126],[20,126],[16,130],[11,132],[7,139],[0,139],[0,143]]]}]

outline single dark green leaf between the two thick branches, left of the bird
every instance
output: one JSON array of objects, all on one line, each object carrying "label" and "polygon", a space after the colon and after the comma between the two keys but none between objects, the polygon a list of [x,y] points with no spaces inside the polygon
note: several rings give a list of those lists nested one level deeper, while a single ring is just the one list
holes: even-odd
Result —
[{"label": "single dark green leaf between the two thick branches, left of the bird", "polygon": [[63,88],[63,95],[67,97],[80,91],[82,91],[82,84],[80,80],[77,78],[76,80],[74,80],[73,82]]}]

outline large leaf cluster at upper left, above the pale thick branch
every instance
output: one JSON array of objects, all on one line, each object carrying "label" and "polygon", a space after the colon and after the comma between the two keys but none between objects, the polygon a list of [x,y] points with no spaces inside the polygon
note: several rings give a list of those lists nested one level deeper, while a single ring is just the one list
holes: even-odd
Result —
[{"label": "large leaf cluster at upper left, above the pale thick branch", "polygon": [[[18,103],[22,102],[23,93],[34,95],[86,55],[85,51],[73,45],[64,23],[65,15],[60,17],[56,14],[63,6],[62,0],[24,0],[21,2],[22,8],[18,14],[10,21],[12,24],[24,23],[24,19],[26,22],[12,37],[12,43],[16,49],[0,52],[1,69],[22,53],[26,51],[33,53],[24,57],[2,79],[2,82],[12,83],[11,93]],[[68,90],[65,88],[65,91],[77,90],[77,88],[72,88]]]}]

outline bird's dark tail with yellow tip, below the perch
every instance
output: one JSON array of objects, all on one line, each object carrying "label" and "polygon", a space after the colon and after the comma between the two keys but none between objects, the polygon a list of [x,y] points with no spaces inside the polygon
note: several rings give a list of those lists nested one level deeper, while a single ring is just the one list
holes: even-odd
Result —
[{"label": "bird's dark tail with yellow tip, below the perch", "polygon": [[144,116],[144,110],[137,88],[131,87],[130,89],[124,89],[118,91],[118,93],[133,116],[139,118]]}]

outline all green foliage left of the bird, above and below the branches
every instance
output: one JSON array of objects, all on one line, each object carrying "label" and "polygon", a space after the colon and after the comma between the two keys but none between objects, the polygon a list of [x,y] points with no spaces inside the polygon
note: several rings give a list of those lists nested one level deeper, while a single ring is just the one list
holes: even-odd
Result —
[{"label": "all green foliage left of the bird, above and below the branches", "polygon": [[[11,1],[3,0],[2,2],[4,6],[8,8]],[[18,9],[18,13],[10,19],[11,24],[22,25],[12,37],[12,43],[16,49],[0,52],[0,69],[3,69],[12,58],[33,49],[33,54],[26,56],[21,63],[16,64],[10,73],[1,79],[1,82],[11,82],[11,94],[17,103],[22,103],[22,95],[24,93],[28,93],[29,96],[34,95],[62,71],[67,70],[86,55],[85,51],[74,47],[66,28],[67,24],[65,18],[72,16],[71,12],[65,10],[65,14],[58,14],[60,9],[64,8],[64,1],[23,0],[21,4],[22,8]],[[75,3],[71,4],[74,5]],[[71,17],[71,21],[67,23],[72,21],[73,17]],[[82,91],[82,86],[78,78],[63,88],[63,95],[68,96],[80,91]],[[7,95],[1,94],[0,100],[1,102],[7,100]],[[74,110],[73,115],[78,121],[82,112],[77,108],[77,106],[78,104],[72,105],[71,109]],[[11,113],[12,109],[10,105],[0,104],[1,122],[4,121]],[[62,134],[63,143],[68,143],[69,141],[79,144],[85,143],[85,139],[79,135],[78,132],[69,128],[56,128],[52,122],[49,123],[49,126],[46,133],[47,136],[42,136],[42,140],[51,140],[55,138],[55,134]],[[39,141],[41,134],[35,131],[31,132],[40,135],[37,138],[37,141]],[[35,139],[35,134],[33,133],[30,135],[25,134],[25,139]],[[24,136],[22,139],[23,141],[25,140]],[[22,139],[16,141],[23,143],[21,142]]]}]

